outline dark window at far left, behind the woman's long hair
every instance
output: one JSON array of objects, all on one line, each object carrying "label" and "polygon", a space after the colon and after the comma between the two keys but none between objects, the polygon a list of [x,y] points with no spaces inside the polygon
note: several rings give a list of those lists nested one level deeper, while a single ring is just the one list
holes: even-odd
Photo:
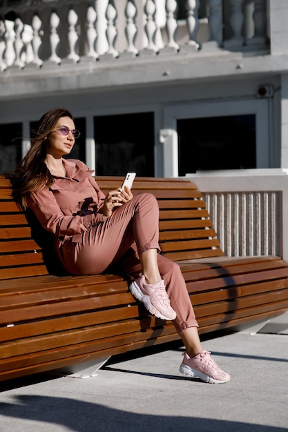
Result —
[{"label": "dark window at far left, behind the woman's long hair", "polygon": [[0,173],[15,170],[22,157],[22,124],[0,124]]}]

